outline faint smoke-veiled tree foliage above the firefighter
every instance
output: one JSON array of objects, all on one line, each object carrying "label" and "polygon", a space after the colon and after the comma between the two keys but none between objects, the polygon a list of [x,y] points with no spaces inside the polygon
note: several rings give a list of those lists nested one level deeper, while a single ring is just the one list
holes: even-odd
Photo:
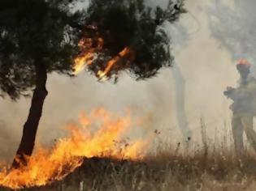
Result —
[{"label": "faint smoke-veiled tree foliage above the firefighter", "polygon": [[208,5],[210,31],[234,61],[240,58],[256,61],[255,6],[254,0],[215,0]]}]

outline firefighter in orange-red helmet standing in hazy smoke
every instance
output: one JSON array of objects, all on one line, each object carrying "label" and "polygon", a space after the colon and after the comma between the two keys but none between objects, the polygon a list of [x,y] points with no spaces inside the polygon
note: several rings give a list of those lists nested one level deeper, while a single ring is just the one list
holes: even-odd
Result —
[{"label": "firefighter in orange-red helmet standing in hazy smoke", "polygon": [[251,64],[241,60],[236,65],[240,74],[237,88],[227,87],[224,95],[233,100],[232,110],[232,136],[237,155],[244,151],[243,133],[245,132],[251,146],[256,151],[256,134],[254,132],[254,116],[256,116],[256,79],[249,76]]}]

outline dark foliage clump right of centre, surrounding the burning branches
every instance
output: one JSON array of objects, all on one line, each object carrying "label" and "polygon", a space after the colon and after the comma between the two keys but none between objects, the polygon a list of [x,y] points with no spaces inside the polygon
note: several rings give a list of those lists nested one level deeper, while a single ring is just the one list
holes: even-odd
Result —
[{"label": "dark foliage clump right of centre, surrounding the burning branches", "polygon": [[143,0],[93,0],[88,9],[86,23],[94,31],[85,37],[104,39],[89,71],[93,74],[106,68],[106,62],[125,47],[134,53],[113,66],[107,77],[118,77],[119,71],[128,70],[135,79],[146,79],[157,74],[163,66],[171,66],[170,39],[163,30],[164,22],[173,23],[184,13],[184,1],[169,1],[166,9],[152,9]]}]

